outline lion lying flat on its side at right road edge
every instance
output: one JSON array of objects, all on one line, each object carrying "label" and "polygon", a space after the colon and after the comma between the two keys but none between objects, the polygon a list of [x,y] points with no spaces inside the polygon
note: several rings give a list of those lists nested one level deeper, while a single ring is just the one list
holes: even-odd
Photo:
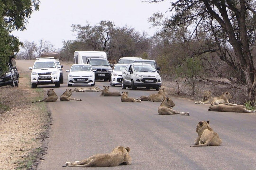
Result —
[{"label": "lion lying flat on its side at right road edge", "polygon": [[223,104],[212,105],[209,107],[208,111],[256,113],[256,110],[248,110],[243,105],[227,106],[227,105],[223,105]]}]

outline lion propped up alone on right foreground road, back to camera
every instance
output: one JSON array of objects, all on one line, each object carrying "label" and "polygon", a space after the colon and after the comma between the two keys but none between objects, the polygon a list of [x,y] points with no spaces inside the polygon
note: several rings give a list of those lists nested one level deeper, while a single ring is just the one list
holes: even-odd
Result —
[{"label": "lion propped up alone on right foreground road, back to camera", "polygon": [[196,126],[196,132],[198,134],[194,144],[190,147],[202,147],[202,146],[219,146],[222,143],[219,135],[213,131],[207,122],[200,121]]}]

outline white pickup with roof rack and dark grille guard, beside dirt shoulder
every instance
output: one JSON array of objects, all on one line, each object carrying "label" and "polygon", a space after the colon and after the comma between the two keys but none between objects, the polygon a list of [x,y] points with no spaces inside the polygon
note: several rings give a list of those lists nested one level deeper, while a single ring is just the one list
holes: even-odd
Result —
[{"label": "white pickup with roof rack and dark grille guard, beside dirt shoulder", "polygon": [[36,88],[40,84],[55,84],[55,87],[60,87],[60,66],[57,65],[54,57],[36,58],[30,74],[31,88]]}]

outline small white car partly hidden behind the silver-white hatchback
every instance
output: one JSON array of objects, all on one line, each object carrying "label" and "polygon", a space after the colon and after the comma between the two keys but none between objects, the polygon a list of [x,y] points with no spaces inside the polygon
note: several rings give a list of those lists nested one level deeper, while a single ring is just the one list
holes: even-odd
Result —
[{"label": "small white car partly hidden behind the silver-white hatchback", "polygon": [[127,64],[116,64],[111,75],[110,86],[121,85],[122,74]]}]

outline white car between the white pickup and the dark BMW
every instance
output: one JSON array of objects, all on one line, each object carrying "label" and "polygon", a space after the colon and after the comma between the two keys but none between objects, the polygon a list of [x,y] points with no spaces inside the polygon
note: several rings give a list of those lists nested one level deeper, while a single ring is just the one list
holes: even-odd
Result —
[{"label": "white car between the white pickup and the dark BMW", "polygon": [[84,85],[90,84],[91,86],[95,85],[95,72],[92,70],[90,64],[73,64],[68,74],[68,86],[72,85]]}]

